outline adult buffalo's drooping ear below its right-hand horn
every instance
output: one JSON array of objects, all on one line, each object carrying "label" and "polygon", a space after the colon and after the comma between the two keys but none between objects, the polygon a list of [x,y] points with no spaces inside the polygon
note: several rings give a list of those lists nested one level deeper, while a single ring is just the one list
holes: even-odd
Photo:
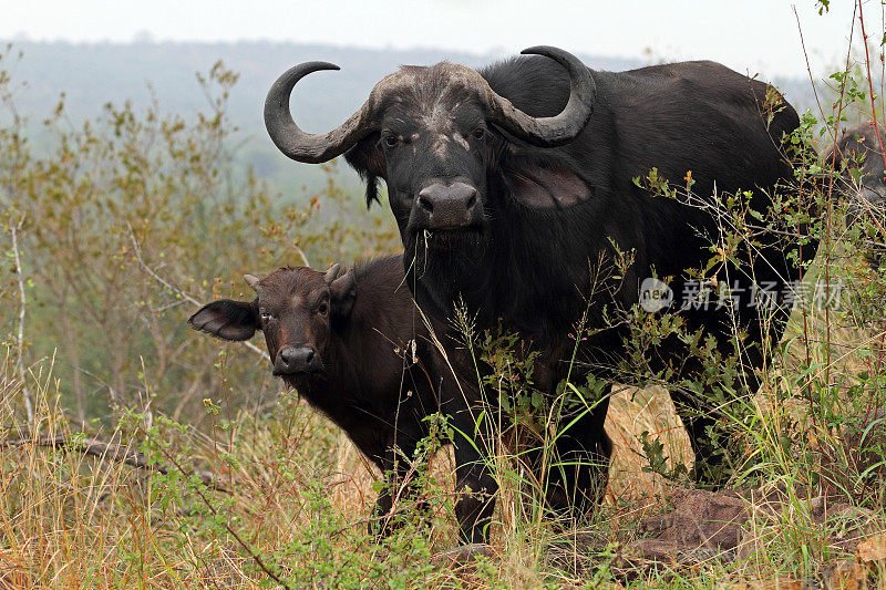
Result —
[{"label": "adult buffalo's drooping ear below its right-hand horn", "polygon": [[528,164],[503,174],[514,199],[535,209],[559,209],[590,197],[588,185],[565,166]]}]

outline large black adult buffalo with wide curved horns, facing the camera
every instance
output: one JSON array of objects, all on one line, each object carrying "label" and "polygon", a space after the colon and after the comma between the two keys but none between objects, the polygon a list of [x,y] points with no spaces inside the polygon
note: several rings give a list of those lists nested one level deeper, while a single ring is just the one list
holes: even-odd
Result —
[{"label": "large black adult buffalo with wide curved horns, facing the camera", "polygon": [[[379,179],[388,186],[408,283],[434,330],[445,334],[440,340],[457,376],[444,382],[440,405],[454,431],[470,438],[455,441],[456,487],[472,491],[456,506],[467,541],[487,538],[497,486],[475,424],[483,395],[475,363],[447,321],[454,306],[464,306],[478,330],[501,321],[532,341],[542,351],[536,381],[547,393],[567,374],[611,377],[630,331],[619,310],[638,302],[640,284],[651,277],[669,278],[678,296],[687,291],[688,269],[705,268],[711,244],[722,236],[723,218],[711,207],[653,198],[635,179],[652,168],[671,183],[691,178],[692,192],[709,200],[753,190],[749,205],[763,222],[777,185],[793,179],[782,139],[799,117],[762,82],[712,62],[614,73],[591,71],[556,48],[523,53],[535,56],[481,71],[452,63],[403,66],[326,135],[298,127],[289,97],[305,75],[338,66],[297,65],[265,103],[266,126],[284,154],[307,163],[344,154],[367,179],[369,204]],[[765,366],[790,313],[784,288],[814,251],[810,240],[800,257],[787,256],[796,241],[775,237],[786,234],[754,236],[752,247],[732,257],[738,269],[714,267],[719,283],[733,288],[734,304],[681,311],[683,327],[703,330],[724,355],[736,354],[735,334],[744,338],[738,374],[723,377],[743,391],[756,389],[755,370]],[[614,268],[619,252],[632,258],[627,268]],[[765,311],[755,297],[762,282],[772,294]],[[697,373],[710,369],[688,359],[678,341],[666,339],[650,360]],[[687,389],[672,397],[697,465],[715,463],[708,427],[717,414],[699,412],[703,402]],[[604,395],[562,418],[555,507],[578,515],[599,499],[611,453],[607,407]]]}]

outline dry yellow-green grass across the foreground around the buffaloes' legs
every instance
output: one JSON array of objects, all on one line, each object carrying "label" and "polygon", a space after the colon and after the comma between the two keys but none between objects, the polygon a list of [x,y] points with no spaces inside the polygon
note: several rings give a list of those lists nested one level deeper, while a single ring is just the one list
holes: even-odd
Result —
[{"label": "dry yellow-green grass across the foreground around the buffaloes' legs", "polygon": [[[229,353],[251,358],[245,349]],[[25,376],[34,404],[30,426],[20,420],[21,382],[9,355],[3,377],[0,420],[20,424],[6,429],[0,448],[0,580],[10,588],[253,588],[271,575],[292,588],[697,587],[725,580],[756,580],[758,587],[770,588],[777,579],[793,584],[830,581],[835,568],[845,570],[854,562],[859,541],[877,540],[875,534],[884,530],[879,499],[851,503],[857,507],[848,517],[852,527],[846,519],[816,521],[808,508],[808,500],[814,504],[821,495],[815,488],[797,491],[775,511],[740,500],[756,510],[741,527],[740,559],[736,551],[703,544],[707,551],[701,553],[674,551],[662,558],[668,553],[638,545],[650,532],[648,525],[638,524],[666,509],[682,486],[649,473],[640,434],[652,433],[664,443],[664,455],[677,460],[688,462],[691,452],[663,391],[624,389],[612,401],[607,423],[617,443],[611,482],[594,520],[567,532],[533,520],[525,490],[508,477],[515,463],[502,449],[496,463],[505,485],[494,553],[453,568],[447,557],[455,538],[449,448],[434,456],[425,486],[425,497],[436,507],[430,530],[408,524],[379,544],[365,534],[379,474],[291,392],[281,392],[276,407],[260,416],[247,410],[223,418],[234,411],[207,401],[200,429],[148,408],[124,413],[119,424],[84,434],[62,410],[51,360],[37,363]],[[150,380],[147,375],[146,389]],[[758,402],[761,414],[773,422],[805,415],[799,402],[767,405],[763,394]],[[70,444],[42,444],[62,435]],[[815,427],[804,428],[802,435],[806,439],[799,444],[816,452],[842,442]],[[95,439],[119,447],[99,448],[97,456],[83,453]],[[849,451],[857,455],[857,449]],[[136,453],[141,468],[120,460]],[[773,480],[764,489],[783,489],[780,484],[785,482],[795,486],[821,469],[821,459],[804,463],[803,457],[786,457],[784,469],[773,466]],[[202,478],[195,469],[215,479]],[[876,488],[872,493],[880,494],[880,486]],[[699,521],[677,525],[692,528]],[[721,525],[714,526],[714,534]],[[837,539],[846,530],[849,537]],[[846,539],[848,545],[837,542]],[[874,556],[870,563],[886,558],[879,546],[868,551]],[[868,566],[862,573],[847,570],[846,579],[867,579]]]}]

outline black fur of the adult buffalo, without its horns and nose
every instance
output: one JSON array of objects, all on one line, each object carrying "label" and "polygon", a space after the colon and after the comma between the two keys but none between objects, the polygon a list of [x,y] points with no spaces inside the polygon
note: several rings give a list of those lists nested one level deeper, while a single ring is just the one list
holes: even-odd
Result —
[{"label": "black fur of the adult buffalo, without its horns and nose", "polygon": [[[453,334],[447,319],[456,301],[476,318],[477,329],[492,328],[501,319],[506,329],[534,342],[543,351],[539,373],[548,392],[566,374],[565,361],[574,345],[568,334],[588,310],[586,327],[598,331],[581,343],[580,369],[573,379],[583,372],[608,376],[624,359],[627,327],[607,328],[602,307],[610,312],[629,308],[638,301],[640,281],[652,276],[673,277],[670,284],[680,297],[687,270],[704,266],[719,231],[704,210],[653,198],[633,178],[645,178],[655,167],[679,186],[691,170],[696,195],[710,197],[714,188],[719,195],[754,190],[752,206],[760,211],[766,209],[766,194],[792,179],[781,142],[799,125],[795,111],[777,94],[767,101],[766,84],[717,63],[591,72],[597,99],[590,122],[575,141],[558,148],[533,147],[502,130],[484,130],[483,105],[471,89],[449,85],[446,64],[412,70],[413,87],[387,96],[378,110],[381,132],[346,157],[370,180],[370,203],[375,198],[375,178],[388,185],[405,247],[408,284],[433,320],[456,373],[441,393],[441,410],[465,433],[475,432],[471,406],[480,392],[473,361],[449,338]],[[481,74],[495,92],[533,116],[559,113],[568,97],[565,72],[546,58],[508,60]],[[481,131],[480,138],[474,134],[477,128],[486,132]],[[415,195],[431,182],[455,180],[477,189],[482,221],[429,237]],[[575,190],[576,182],[585,190]],[[532,194],[521,187],[532,187]],[[573,188],[564,193],[563,187]],[[552,198],[545,206],[545,195],[552,194],[563,198]],[[606,276],[612,244],[635,256],[624,279]],[[742,272],[732,269],[720,279],[730,284],[738,280],[749,293],[748,277],[771,280],[782,292],[786,282],[802,276],[800,266],[786,257],[795,246],[790,239],[763,238],[759,258],[743,260]],[[801,258],[810,260],[815,246],[805,245]],[[595,278],[598,289],[590,292]],[[750,297],[740,301],[736,318],[752,344],[740,380],[752,393],[758,383],[754,369],[767,363],[761,345],[766,339],[777,342],[790,309],[779,301],[763,333]],[[727,311],[687,311],[683,317],[690,330],[704,329],[723,353],[732,353],[733,323]],[[686,352],[671,341],[660,349],[656,358],[662,361],[679,361]],[[699,402],[680,392],[674,392],[674,400],[698,460],[712,460],[704,432],[714,417],[687,412],[690,406],[698,408]],[[588,501],[600,497],[606,482],[611,451],[602,429],[606,407],[604,401],[575,425],[574,436],[559,448],[564,455],[575,453],[602,463],[567,474],[566,487],[579,488],[578,495]],[[456,442],[457,487],[485,493],[462,499],[456,508],[462,537],[473,541],[486,539],[496,488],[480,463],[476,448],[482,447],[482,441]],[[588,501],[568,500],[576,511]]]}]

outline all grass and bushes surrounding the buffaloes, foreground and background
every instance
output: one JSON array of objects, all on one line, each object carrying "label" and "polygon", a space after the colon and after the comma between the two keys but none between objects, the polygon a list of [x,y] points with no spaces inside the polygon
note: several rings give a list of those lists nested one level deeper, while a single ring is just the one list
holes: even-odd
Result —
[{"label": "all grass and bushes surrounding the buffaloes, foreground and background", "polygon": [[[279,391],[262,349],[185,327],[195,302],[241,296],[245,271],[395,249],[383,209],[360,211],[331,168],[323,195],[295,200],[231,172],[236,75],[222,65],[196,120],[123,105],[75,127],[60,105],[41,156],[8,63],[0,588],[886,586],[886,272],[868,261],[884,242],[874,211],[851,228],[839,206],[822,214],[807,280],[842,281],[841,308],[795,311],[762,390],[733,414],[753,458],[733,477],[738,493],[687,491],[677,467],[692,453],[667,392],[616,387],[600,509],[577,525],[544,518],[503,441],[492,552],[454,563],[449,447],[429,441],[411,458],[430,463],[432,515],[402,501],[402,528],[380,541],[368,534],[380,474]],[[822,102],[882,114],[865,58],[853,63]],[[806,131],[835,127],[830,113]]]}]

